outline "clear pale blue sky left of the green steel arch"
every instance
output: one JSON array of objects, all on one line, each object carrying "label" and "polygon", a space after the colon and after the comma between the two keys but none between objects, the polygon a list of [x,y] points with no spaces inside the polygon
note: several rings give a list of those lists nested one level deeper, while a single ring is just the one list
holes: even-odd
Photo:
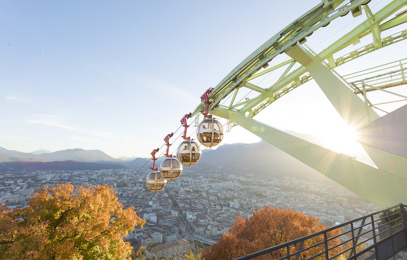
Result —
[{"label": "clear pale blue sky left of the green steel arch", "polygon": [[2,1],[0,146],[148,157],[207,88],[318,3]]}]

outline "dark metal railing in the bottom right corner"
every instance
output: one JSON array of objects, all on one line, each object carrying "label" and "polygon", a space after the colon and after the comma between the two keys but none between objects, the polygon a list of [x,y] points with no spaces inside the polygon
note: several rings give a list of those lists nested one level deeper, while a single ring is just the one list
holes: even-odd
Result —
[{"label": "dark metal railing in the bottom right corner", "polygon": [[407,246],[406,207],[399,204],[235,260],[386,260]]}]

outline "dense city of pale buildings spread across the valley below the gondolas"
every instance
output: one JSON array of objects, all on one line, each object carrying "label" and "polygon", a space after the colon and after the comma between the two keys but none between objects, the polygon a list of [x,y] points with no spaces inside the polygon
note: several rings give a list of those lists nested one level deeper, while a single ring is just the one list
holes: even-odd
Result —
[{"label": "dense city of pale buildings spread across the valley below the gondolas", "polygon": [[0,176],[0,198],[11,208],[24,207],[43,185],[106,183],[114,187],[125,208],[135,207],[137,214],[147,220],[142,229],[134,229],[126,238],[144,247],[182,239],[210,245],[228,232],[237,215],[248,218],[267,205],[315,216],[330,226],[379,210],[339,185],[271,173],[235,175],[230,169],[209,173],[189,168],[163,191],[154,193],[146,187],[147,172],[135,175],[136,172],[137,169],[6,172]]}]

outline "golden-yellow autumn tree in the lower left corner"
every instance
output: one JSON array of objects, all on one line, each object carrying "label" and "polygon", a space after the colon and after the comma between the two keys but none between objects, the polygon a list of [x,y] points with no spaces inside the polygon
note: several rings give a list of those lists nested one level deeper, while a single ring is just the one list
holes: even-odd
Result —
[{"label": "golden-yellow autumn tree in the lower left corner", "polygon": [[123,239],[145,222],[107,185],[45,186],[26,208],[0,205],[0,259],[130,259]]}]

